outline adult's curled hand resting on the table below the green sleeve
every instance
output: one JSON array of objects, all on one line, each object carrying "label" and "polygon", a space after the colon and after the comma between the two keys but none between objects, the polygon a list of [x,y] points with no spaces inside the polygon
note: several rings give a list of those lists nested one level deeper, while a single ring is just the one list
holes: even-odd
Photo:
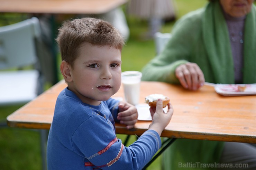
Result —
[{"label": "adult's curled hand resting on the table below the green sleeve", "polygon": [[198,90],[204,84],[204,75],[196,63],[181,64],[175,70],[181,85],[189,90]]}]

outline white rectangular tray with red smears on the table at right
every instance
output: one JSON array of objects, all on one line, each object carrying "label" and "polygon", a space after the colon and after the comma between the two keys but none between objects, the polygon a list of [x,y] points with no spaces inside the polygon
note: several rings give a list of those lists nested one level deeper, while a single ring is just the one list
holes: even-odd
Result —
[{"label": "white rectangular tray with red smears on the table at right", "polygon": [[[239,86],[246,86],[243,92],[238,90]],[[216,84],[215,91],[223,96],[246,96],[256,95],[256,83],[254,84]]]}]

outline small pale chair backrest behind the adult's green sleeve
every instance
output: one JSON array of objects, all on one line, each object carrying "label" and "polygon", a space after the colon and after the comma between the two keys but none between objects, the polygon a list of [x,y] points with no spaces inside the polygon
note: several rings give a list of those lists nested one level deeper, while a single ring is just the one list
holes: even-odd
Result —
[{"label": "small pale chair backrest behind the adult's green sleeve", "polygon": [[155,33],[155,47],[156,47],[156,54],[159,54],[167,41],[171,38],[172,34],[171,33],[161,33],[161,32],[156,32]]}]

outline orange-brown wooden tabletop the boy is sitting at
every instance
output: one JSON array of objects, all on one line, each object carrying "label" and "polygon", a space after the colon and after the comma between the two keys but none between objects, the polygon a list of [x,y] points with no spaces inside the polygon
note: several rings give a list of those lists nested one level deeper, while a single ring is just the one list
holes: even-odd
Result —
[{"label": "orange-brown wooden tabletop the boy is sitting at", "polygon": [[[49,129],[55,101],[64,81],[7,117],[10,127]],[[188,91],[179,85],[141,82],[140,103],[153,93],[170,97],[174,115],[162,137],[256,143],[256,96],[221,96],[211,86]],[[124,98],[120,90],[114,97]],[[138,121],[134,129],[116,123],[118,134],[141,135],[151,121]]]}]

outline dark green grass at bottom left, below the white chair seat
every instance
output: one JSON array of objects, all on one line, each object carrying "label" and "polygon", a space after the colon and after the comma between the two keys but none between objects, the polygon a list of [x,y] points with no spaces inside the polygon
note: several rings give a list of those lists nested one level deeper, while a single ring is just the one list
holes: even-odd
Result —
[{"label": "dark green grass at bottom left, below the white chair seat", "polygon": [[[19,107],[21,106],[1,106],[1,122]],[[0,129],[0,169],[40,170],[42,161],[39,141],[37,131],[2,127]]]}]

